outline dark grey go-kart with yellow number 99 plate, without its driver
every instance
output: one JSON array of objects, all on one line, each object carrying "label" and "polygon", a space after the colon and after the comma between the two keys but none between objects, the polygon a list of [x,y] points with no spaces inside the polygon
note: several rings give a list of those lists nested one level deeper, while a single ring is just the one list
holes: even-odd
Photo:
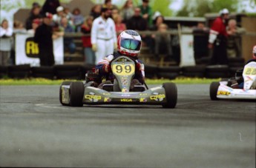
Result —
[{"label": "dark grey go-kart with yellow number 99 plate, without its driver", "polygon": [[93,70],[85,74],[82,81],[64,81],[59,89],[59,101],[62,105],[82,107],[83,104],[160,104],[165,108],[174,108],[177,104],[177,87],[174,83],[148,89],[146,84],[134,85],[136,61],[127,56],[114,58],[110,63],[114,75],[113,84],[103,84],[102,89],[93,86],[100,82]]}]

